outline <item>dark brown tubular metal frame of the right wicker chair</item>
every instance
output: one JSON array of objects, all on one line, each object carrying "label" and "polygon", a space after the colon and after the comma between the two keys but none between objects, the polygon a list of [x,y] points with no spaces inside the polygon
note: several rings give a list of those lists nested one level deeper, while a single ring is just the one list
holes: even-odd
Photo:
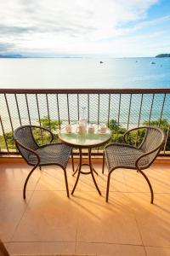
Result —
[{"label": "dark brown tubular metal frame of the right wicker chair", "polygon": [[[114,166],[113,168],[111,168],[111,170],[109,171],[108,177],[107,177],[107,189],[106,189],[106,199],[105,199],[106,202],[108,202],[108,199],[109,199],[109,189],[110,189],[111,173],[112,173],[113,171],[115,171],[116,169],[118,169],[118,168],[124,168],[124,169],[133,169],[133,170],[137,170],[137,172],[139,172],[140,174],[142,174],[142,176],[144,177],[144,179],[146,180],[146,182],[148,183],[148,185],[149,185],[149,187],[150,187],[150,195],[151,195],[150,203],[153,204],[153,202],[154,202],[154,192],[153,192],[153,189],[152,189],[152,186],[151,186],[151,183],[150,183],[149,178],[145,175],[144,172],[142,172],[142,170],[149,168],[150,165],[154,162],[154,160],[156,160],[156,157],[157,157],[157,155],[159,154],[159,152],[160,152],[160,150],[161,150],[161,146],[162,146],[162,145],[164,144],[164,142],[165,142],[165,134],[164,134],[163,131],[161,131],[160,128],[158,128],[158,127],[156,127],[156,126],[149,126],[149,125],[139,126],[139,127],[137,127],[137,128],[133,128],[133,129],[130,129],[130,130],[126,131],[126,132],[124,133],[124,135],[123,135],[123,142],[127,144],[127,147],[128,147],[128,148],[136,148],[136,147],[133,147],[132,145],[130,145],[130,144],[127,143],[127,139],[126,139],[127,134],[130,133],[131,131],[139,131],[139,130],[141,130],[141,129],[146,129],[146,130],[147,130],[147,129],[150,129],[150,128],[154,128],[154,129],[156,129],[156,130],[158,130],[158,131],[161,132],[161,136],[162,136],[161,143],[159,143],[159,145],[158,145],[156,148],[150,150],[150,151],[147,152],[147,153],[144,153],[144,154],[140,155],[139,158],[138,158],[138,159],[136,160],[136,162],[135,162],[135,167],[132,167],[132,166]],[[143,142],[139,145],[139,147],[138,147],[137,149],[140,149],[140,148],[142,147],[142,145],[143,145],[143,143],[144,143],[144,140],[145,140],[145,137],[147,137],[147,131],[145,132]],[[105,148],[108,148],[108,147],[110,147],[111,145],[121,145],[121,143],[109,143],[109,144],[107,144],[107,145],[105,146]],[[158,149],[159,149],[159,150],[158,150]],[[158,151],[157,151],[155,157],[153,158],[153,160],[151,160],[147,166],[140,167],[140,166],[139,166],[139,160],[141,160],[143,157],[145,157],[145,156],[147,156],[147,155],[150,155],[150,154],[156,152],[156,150],[158,150]],[[103,174],[104,174],[104,169],[105,169],[105,150],[104,150],[104,154],[103,154],[103,166],[102,166],[102,173],[103,173]]]}]

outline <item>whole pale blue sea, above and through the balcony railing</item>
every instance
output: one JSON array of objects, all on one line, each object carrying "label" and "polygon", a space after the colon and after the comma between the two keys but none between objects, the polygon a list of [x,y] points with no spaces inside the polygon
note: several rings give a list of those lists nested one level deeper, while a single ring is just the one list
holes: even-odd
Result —
[{"label": "whole pale blue sea, above and through the balcony railing", "polygon": [[[103,63],[100,63],[102,61]],[[155,64],[151,64],[155,62]],[[47,59],[0,59],[0,88],[19,89],[59,89],[59,88],[170,88],[170,58],[47,58]],[[13,128],[20,125],[14,95],[7,95],[8,108],[12,117]],[[49,116],[59,119],[65,124],[68,121],[68,106],[65,95],[59,95],[59,113],[56,95],[27,95],[27,103],[31,124],[38,124],[37,100],[40,117]],[[29,113],[26,96],[17,95],[22,125],[29,124]],[[123,127],[142,125],[148,119],[162,118],[170,121],[170,95],[122,95],[121,105],[118,95],[111,96],[110,119],[116,119]],[[98,105],[98,102],[99,105]],[[8,108],[5,98],[0,95],[0,115],[4,130],[11,131]],[[131,104],[129,115],[129,104]],[[141,105],[142,104],[142,105]],[[164,108],[162,110],[162,104]],[[90,122],[108,121],[109,95],[90,95],[88,112],[88,96],[69,95],[69,112],[71,122],[78,119],[82,108]],[[120,107],[120,109],[119,109]],[[150,108],[152,108],[150,115]],[[128,116],[129,115],[129,116]],[[118,117],[119,116],[119,117]],[[2,127],[0,125],[0,134]]]}]

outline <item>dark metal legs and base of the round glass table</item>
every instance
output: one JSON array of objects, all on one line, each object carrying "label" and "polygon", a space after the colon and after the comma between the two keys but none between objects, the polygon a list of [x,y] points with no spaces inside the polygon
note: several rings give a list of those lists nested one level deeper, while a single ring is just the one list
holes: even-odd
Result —
[{"label": "dark metal legs and base of the round glass table", "polygon": [[[78,183],[78,180],[79,180],[79,177],[80,177],[81,173],[85,174],[85,175],[88,175],[88,174],[92,175],[93,180],[94,180],[94,185],[95,185],[96,189],[98,190],[99,195],[101,195],[101,192],[99,190],[98,184],[96,183],[96,180],[95,180],[95,177],[94,177],[94,173],[96,173],[98,175],[98,172],[96,172],[94,170],[94,167],[92,165],[92,162],[91,162],[91,151],[92,151],[92,148],[88,148],[88,164],[85,164],[85,163],[82,163],[82,148],[79,148],[79,154],[80,154],[79,164],[77,166],[77,170],[73,173],[73,176],[74,176],[78,172],[77,173],[77,180],[76,180],[76,183],[74,185],[74,188],[72,189],[71,195],[74,194],[74,191],[77,188],[77,183]],[[82,166],[89,166],[90,167],[90,171],[89,172],[82,172]]]}]

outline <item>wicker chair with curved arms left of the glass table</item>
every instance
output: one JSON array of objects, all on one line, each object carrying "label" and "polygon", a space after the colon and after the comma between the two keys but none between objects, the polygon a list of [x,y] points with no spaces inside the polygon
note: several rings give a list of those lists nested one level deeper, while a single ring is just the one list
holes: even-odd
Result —
[{"label": "wicker chair with curved arms left of the glass table", "polygon": [[[48,132],[51,140],[48,144],[39,146],[33,136],[33,129],[40,129],[42,132]],[[70,146],[64,143],[52,143],[54,140],[53,133],[48,129],[42,128],[36,125],[24,125],[14,130],[14,142],[16,147],[19,149],[20,154],[26,160],[26,163],[33,166],[31,172],[26,177],[26,182],[23,189],[23,197],[26,199],[26,184],[28,183],[29,177],[32,172],[39,166],[60,166],[65,174],[65,186],[67,196],[69,197],[69,188],[66,176],[66,166],[69,160],[70,154],[72,157],[72,167],[74,171],[73,154]]]}]

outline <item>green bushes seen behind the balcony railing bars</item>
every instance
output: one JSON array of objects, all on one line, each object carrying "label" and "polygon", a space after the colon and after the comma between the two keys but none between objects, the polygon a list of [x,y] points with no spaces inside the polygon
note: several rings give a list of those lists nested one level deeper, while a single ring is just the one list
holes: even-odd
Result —
[{"label": "green bushes seen behind the balcony railing bars", "polygon": [[[54,142],[57,142],[58,136],[55,131],[59,129],[59,125],[61,125],[62,122],[59,123],[59,120],[52,120],[52,119],[49,120],[47,116],[44,116],[40,121],[41,121],[41,126],[43,128],[49,129],[50,127],[51,131],[54,133]],[[142,125],[149,125],[149,122],[144,121]],[[151,120],[150,125],[159,126],[161,130],[165,131],[165,133],[168,130],[167,119]],[[109,128],[111,129],[111,142],[122,143],[123,135],[127,131],[127,129],[122,127],[122,125],[119,125],[115,119],[110,120]],[[39,145],[50,142],[50,135],[48,131],[43,131],[41,129],[35,128],[33,129],[33,135]],[[5,137],[8,143],[8,148],[15,149],[12,131],[6,132]],[[139,143],[141,143],[143,137],[144,137],[143,129],[139,131],[132,131],[127,137],[127,143],[138,146]],[[0,147],[2,149],[6,149],[6,143],[2,135],[0,136]],[[166,150],[170,150],[170,137],[167,138]]]}]

